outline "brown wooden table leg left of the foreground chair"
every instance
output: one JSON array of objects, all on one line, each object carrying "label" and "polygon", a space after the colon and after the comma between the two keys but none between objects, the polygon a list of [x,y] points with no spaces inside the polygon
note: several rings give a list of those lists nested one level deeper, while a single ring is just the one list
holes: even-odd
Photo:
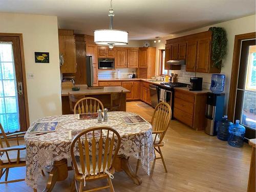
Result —
[{"label": "brown wooden table leg left of the foreground chair", "polygon": [[49,179],[44,192],[52,191],[57,181],[63,181],[68,177],[68,160],[61,159],[60,161],[54,161],[53,167],[49,174]]}]

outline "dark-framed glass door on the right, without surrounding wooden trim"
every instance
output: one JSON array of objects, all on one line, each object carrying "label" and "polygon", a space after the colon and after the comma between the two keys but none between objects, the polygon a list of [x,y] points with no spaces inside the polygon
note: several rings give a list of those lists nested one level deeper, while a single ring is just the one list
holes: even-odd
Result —
[{"label": "dark-framed glass door on the right, without surrounding wooden trim", "polygon": [[245,137],[255,138],[256,129],[256,45],[255,39],[243,40],[234,119],[246,127]]}]

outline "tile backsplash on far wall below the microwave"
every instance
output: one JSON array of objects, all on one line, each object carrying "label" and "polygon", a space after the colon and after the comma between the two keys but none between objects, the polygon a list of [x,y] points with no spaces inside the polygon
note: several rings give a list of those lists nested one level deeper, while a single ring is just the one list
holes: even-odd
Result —
[{"label": "tile backsplash on far wall below the microwave", "polygon": [[111,79],[111,78],[127,78],[128,74],[136,74],[135,68],[115,69],[115,70],[99,70],[99,79]]}]

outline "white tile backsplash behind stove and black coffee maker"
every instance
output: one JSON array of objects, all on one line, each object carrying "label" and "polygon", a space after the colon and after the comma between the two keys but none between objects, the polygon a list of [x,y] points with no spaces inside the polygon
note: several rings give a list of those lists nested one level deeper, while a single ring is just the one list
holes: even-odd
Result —
[{"label": "white tile backsplash behind stove and black coffee maker", "polygon": [[211,74],[207,73],[196,73],[186,72],[186,66],[181,66],[181,70],[173,70],[171,73],[178,74],[178,82],[184,82],[190,84],[190,77],[202,77],[203,78],[203,89],[210,89]]}]

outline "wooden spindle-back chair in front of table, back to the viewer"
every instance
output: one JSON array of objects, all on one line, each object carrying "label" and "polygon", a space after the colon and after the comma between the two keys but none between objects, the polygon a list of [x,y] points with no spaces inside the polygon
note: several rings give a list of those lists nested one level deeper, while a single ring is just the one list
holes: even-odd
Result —
[{"label": "wooden spindle-back chair in front of table, back to the viewer", "polygon": [[[70,151],[77,191],[95,191],[104,188],[114,191],[111,179],[114,178],[115,169],[112,164],[120,143],[118,132],[107,126],[91,127],[74,137]],[[83,190],[87,181],[100,179],[108,180],[108,185]]]}]

